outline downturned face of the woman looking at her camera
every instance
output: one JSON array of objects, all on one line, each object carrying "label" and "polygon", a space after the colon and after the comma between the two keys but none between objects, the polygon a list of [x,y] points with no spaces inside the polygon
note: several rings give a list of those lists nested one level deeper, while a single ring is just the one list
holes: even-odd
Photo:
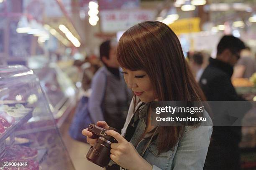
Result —
[{"label": "downturned face of the woman looking at her camera", "polygon": [[123,76],[128,87],[142,102],[155,100],[153,85],[145,71],[123,69]]}]

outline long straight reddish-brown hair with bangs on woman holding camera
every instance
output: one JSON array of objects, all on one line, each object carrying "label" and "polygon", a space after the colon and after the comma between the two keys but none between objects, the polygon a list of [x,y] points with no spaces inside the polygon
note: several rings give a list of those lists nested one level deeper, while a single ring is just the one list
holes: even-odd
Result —
[{"label": "long straight reddish-brown hair with bangs on woman holding camera", "polygon": [[[185,61],[178,37],[164,23],[146,21],[129,28],[118,42],[121,67],[144,70],[158,101],[205,100]],[[136,97],[133,96],[136,102]],[[159,152],[172,149],[184,132],[183,126],[160,126]]]}]

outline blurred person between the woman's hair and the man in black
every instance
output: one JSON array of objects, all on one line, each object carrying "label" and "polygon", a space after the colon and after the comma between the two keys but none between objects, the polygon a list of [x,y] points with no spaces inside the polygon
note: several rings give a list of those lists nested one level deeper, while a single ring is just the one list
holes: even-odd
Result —
[{"label": "blurred person between the woman's hair and the man in black", "polygon": [[197,82],[199,82],[200,77],[204,71],[203,68],[204,55],[202,52],[195,52],[189,57],[189,66]]}]

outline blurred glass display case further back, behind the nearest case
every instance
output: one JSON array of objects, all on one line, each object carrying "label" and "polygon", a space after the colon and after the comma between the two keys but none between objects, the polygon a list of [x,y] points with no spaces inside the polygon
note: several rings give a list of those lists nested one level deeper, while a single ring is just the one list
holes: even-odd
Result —
[{"label": "blurred glass display case further back, behind the nearest case", "polygon": [[55,63],[33,69],[49,100],[49,107],[60,127],[76,101],[77,88]]}]

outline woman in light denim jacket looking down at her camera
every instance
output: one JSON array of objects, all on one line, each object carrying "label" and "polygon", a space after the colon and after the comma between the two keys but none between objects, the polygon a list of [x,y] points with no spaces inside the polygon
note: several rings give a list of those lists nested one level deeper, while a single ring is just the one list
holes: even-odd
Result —
[{"label": "woman in light denim jacket looking down at her camera", "polygon": [[[153,101],[204,100],[174,32],[157,21],[134,25],[120,38],[117,57],[135,96],[122,135],[107,131],[118,141],[111,144],[110,158],[129,170],[203,169],[212,126],[151,125]],[[109,128],[104,121],[97,125]],[[82,133],[92,136],[87,129]],[[87,142],[93,145],[95,139]]]}]

